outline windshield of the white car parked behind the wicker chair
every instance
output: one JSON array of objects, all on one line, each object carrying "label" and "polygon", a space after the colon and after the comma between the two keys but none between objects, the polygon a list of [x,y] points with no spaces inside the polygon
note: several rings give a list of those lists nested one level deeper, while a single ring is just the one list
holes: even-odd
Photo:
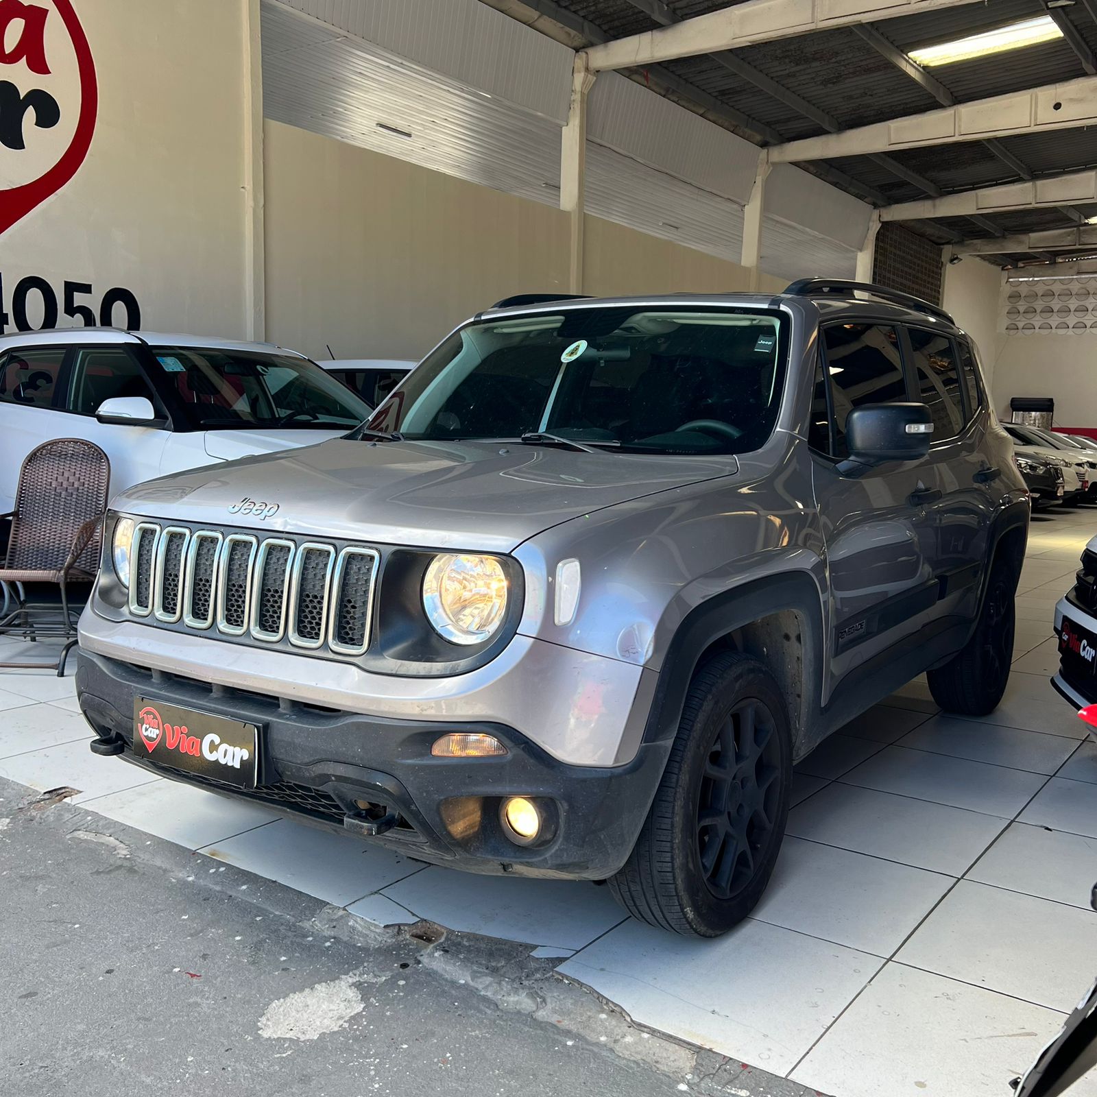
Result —
[{"label": "windshield of the white car parked behind the wicker chair", "polygon": [[195,430],[348,430],[371,408],[315,362],[261,351],[150,347],[157,387]]}]

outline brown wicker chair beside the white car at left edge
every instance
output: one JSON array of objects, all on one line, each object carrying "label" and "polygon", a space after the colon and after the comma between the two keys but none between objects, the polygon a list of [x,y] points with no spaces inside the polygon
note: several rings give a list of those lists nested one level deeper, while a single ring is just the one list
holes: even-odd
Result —
[{"label": "brown wicker chair beside the white car at left edge", "polygon": [[[8,554],[0,567],[3,611],[0,636],[66,641],[56,663],[3,663],[9,669],[55,667],[65,674],[76,646],[77,622],[68,602],[70,580],[90,583],[99,569],[103,516],[111,463],[106,454],[79,438],[59,438],[32,450],[19,474]],[[60,587],[60,614],[49,602],[31,602],[25,583]]]}]

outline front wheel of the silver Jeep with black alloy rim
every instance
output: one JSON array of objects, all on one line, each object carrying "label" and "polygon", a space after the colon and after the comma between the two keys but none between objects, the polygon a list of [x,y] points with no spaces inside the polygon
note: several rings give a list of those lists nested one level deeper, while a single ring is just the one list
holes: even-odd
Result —
[{"label": "front wheel of the silver Jeep with black alloy rim", "polygon": [[748,655],[709,659],[690,683],[636,845],[610,878],[614,897],[651,926],[726,932],[754,909],[773,872],[791,783],[792,733],[773,676]]}]

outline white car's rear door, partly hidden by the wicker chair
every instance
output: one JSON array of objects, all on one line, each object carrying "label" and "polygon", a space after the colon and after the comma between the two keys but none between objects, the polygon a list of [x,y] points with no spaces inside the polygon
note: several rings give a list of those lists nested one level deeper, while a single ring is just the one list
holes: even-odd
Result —
[{"label": "white car's rear door, partly hidden by the wicker chair", "polygon": [[57,408],[66,351],[12,347],[0,353],[0,514],[15,506],[19,472],[27,454],[43,442],[72,433]]}]

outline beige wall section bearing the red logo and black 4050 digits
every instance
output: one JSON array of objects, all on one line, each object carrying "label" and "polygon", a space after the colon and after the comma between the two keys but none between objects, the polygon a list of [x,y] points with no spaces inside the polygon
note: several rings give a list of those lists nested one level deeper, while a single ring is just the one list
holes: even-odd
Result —
[{"label": "beige wall section bearing the red logo and black 4050 digits", "polygon": [[[21,63],[4,66],[0,78],[24,92],[47,88],[59,101],[58,132],[66,131],[67,142],[79,106],[76,55],[59,33],[57,9],[50,0],[44,5],[54,72],[35,80]],[[12,312],[16,284],[34,275],[61,303],[67,281],[90,283],[92,294],[78,299],[97,314],[105,291],[126,287],[146,328],[246,335],[248,5],[81,0],[75,7],[95,63],[98,124],[75,178],[0,235],[0,312]],[[52,131],[26,134],[25,151],[0,148],[0,186],[56,162]],[[31,302],[37,327],[38,296]],[[121,309],[114,319],[125,323]],[[63,314],[58,323],[78,321]]]}]

